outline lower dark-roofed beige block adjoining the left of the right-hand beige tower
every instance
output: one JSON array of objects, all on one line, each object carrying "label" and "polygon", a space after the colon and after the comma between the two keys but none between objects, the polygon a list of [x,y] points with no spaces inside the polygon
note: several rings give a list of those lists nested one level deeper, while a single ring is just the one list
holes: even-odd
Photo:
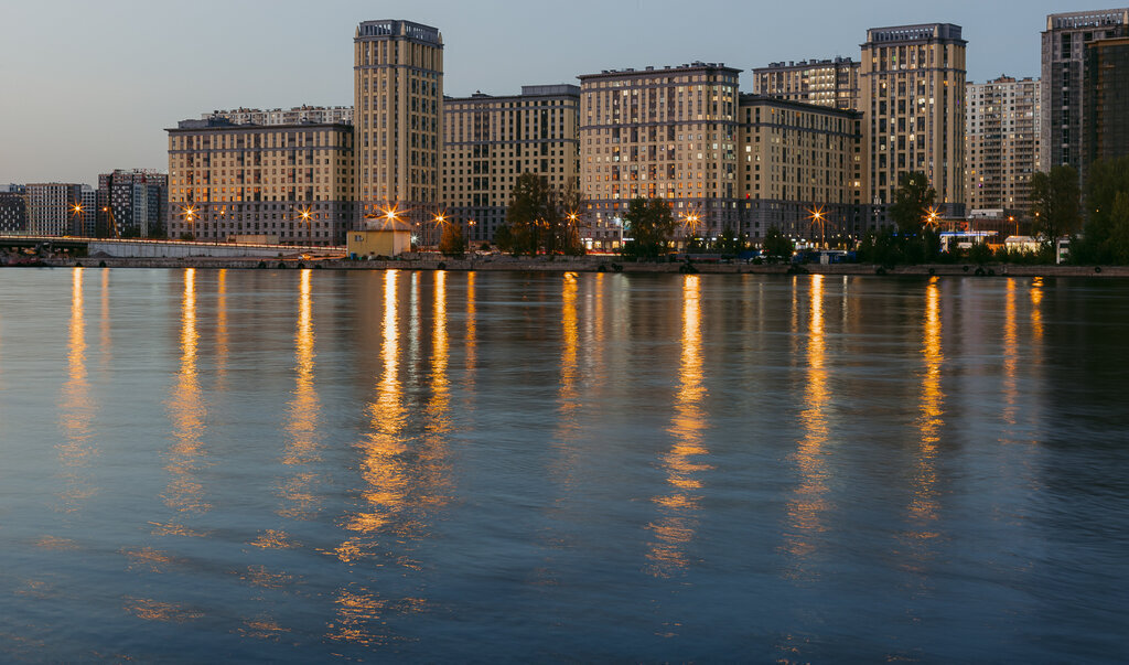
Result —
[{"label": "lower dark-roofed beige block adjoining the left of the right-hand beige tower", "polygon": [[812,243],[857,236],[863,213],[863,114],[742,95],[738,110],[742,230],[771,228]]}]

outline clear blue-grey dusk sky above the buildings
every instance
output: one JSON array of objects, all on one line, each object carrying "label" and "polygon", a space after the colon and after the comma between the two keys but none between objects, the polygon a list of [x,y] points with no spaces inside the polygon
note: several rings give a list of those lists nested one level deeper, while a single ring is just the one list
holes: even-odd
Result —
[{"label": "clear blue-grey dusk sky above the buildings", "polygon": [[[1070,0],[0,0],[0,184],[167,170],[165,129],[239,106],[352,104],[362,20],[439,28],[444,91],[511,95],[604,69],[849,56],[870,27],[953,23],[968,79],[1039,76]],[[1109,7],[1113,7],[1110,5]],[[751,89],[749,75],[743,90]]]}]

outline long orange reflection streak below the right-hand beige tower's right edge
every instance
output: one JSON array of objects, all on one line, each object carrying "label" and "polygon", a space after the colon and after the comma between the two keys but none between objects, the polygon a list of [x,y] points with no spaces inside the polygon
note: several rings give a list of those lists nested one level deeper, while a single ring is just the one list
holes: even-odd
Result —
[{"label": "long orange reflection streak below the right-hand beige tower's right edge", "polygon": [[[924,544],[937,537],[933,524],[937,520],[939,492],[937,490],[937,454],[940,428],[944,426],[945,395],[940,387],[940,368],[945,356],[942,350],[940,289],[939,278],[931,278],[926,287],[925,330],[922,331],[921,356],[925,371],[921,376],[921,406],[918,415],[917,471],[911,488],[913,499],[909,506],[913,531],[907,535],[913,543]],[[921,559],[919,553],[917,559]]]}]

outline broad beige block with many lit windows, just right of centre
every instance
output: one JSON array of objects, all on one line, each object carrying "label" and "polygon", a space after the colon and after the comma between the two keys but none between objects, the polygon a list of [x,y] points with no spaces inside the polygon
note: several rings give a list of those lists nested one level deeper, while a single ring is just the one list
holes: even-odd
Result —
[{"label": "broad beige block with many lit windows, just right of centre", "polygon": [[578,77],[580,190],[595,247],[619,245],[637,196],[665,199],[683,236],[738,230],[739,72],[694,62]]}]

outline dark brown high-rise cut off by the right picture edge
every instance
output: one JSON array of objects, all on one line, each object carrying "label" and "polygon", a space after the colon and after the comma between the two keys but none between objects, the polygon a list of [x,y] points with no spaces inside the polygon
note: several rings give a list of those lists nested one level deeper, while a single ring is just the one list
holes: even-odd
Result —
[{"label": "dark brown high-rise cut off by the right picture edge", "polygon": [[1083,174],[1097,159],[1129,155],[1129,37],[1086,45]]}]

